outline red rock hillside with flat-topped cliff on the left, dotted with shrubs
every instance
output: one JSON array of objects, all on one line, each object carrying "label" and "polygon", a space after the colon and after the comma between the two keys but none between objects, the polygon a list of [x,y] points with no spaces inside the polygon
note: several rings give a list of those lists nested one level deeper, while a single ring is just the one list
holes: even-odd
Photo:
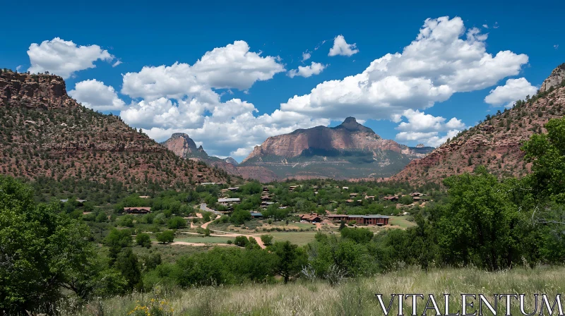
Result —
[{"label": "red rock hillside with flat-topped cliff on the left, dotted with shrubs", "polygon": [[117,116],[86,109],[66,94],[57,75],[1,71],[0,172],[23,178],[83,178],[128,181],[225,181],[225,174],[197,170],[165,147],[127,126]]}]

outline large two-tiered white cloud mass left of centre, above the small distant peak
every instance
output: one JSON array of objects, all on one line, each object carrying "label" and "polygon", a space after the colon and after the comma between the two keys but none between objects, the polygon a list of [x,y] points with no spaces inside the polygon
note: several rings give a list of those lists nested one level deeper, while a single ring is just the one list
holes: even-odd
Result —
[{"label": "large two-tiered white cloud mass left of centre, above the small distant peak", "polygon": [[[120,116],[155,140],[187,133],[209,154],[242,159],[269,136],[330,123],[293,111],[275,110],[256,116],[254,104],[241,99],[222,102],[215,91],[246,91],[256,81],[283,71],[278,57],[250,52],[242,41],[208,51],[192,66],[178,62],[145,66],[138,73],[124,75],[121,92],[142,99],[132,102]],[[309,71],[314,74],[321,69],[314,65]]]}]

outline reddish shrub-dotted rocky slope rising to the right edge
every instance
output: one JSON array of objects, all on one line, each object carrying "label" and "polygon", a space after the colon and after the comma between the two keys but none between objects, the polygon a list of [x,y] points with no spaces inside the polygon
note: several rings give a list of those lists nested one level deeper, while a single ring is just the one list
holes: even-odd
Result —
[{"label": "reddish shrub-dotted rocky slope rising to the right edge", "polygon": [[[561,79],[565,78],[564,65],[552,72],[544,81],[543,90],[530,101],[518,102],[513,109],[465,130],[423,159],[413,160],[391,179],[413,184],[439,183],[447,176],[471,172],[478,165],[487,166],[500,177],[528,174],[530,164],[523,161],[521,144],[534,133],[545,133],[543,126],[549,119],[565,114],[565,87]],[[555,85],[557,82],[559,85]]]}]

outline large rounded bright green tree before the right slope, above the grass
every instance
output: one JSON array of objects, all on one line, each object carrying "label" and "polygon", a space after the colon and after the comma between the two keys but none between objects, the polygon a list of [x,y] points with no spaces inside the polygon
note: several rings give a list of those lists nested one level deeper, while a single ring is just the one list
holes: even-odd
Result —
[{"label": "large rounded bright green tree before the right slope, above the grass", "polygon": [[437,226],[446,262],[491,270],[521,263],[523,214],[511,202],[511,187],[484,166],[444,184],[450,200],[441,207]]}]

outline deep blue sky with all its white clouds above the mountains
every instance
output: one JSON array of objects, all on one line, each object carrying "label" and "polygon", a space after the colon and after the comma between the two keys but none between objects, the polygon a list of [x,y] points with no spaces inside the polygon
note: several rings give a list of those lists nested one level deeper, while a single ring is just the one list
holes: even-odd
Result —
[{"label": "deep blue sky with all its white clouds above the mountains", "polygon": [[[562,1],[177,2],[10,1],[3,4],[3,24],[10,27],[0,35],[0,67],[64,75],[78,101],[121,113],[157,140],[185,131],[210,154],[241,160],[270,135],[335,126],[347,116],[383,138],[439,145],[512,98],[530,94],[565,62]],[[450,20],[436,28],[434,19],[444,16]],[[432,23],[424,25],[429,18]],[[440,33],[444,26],[460,35]],[[444,38],[434,39],[432,32],[417,41],[424,28]],[[336,41],[338,35],[345,44]],[[55,38],[64,41],[63,49],[51,46]],[[403,50],[412,41],[418,43],[410,57]],[[328,56],[335,42],[341,54]],[[30,49],[32,43],[37,49]],[[465,54],[468,44],[473,56],[508,56],[482,68],[482,59]],[[196,66],[215,48],[208,63]],[[305,61],[304,53],[310,54]],[[343,81],[395,53],[402,56],[392,57],[386,71]],[[292,76],[299,66],[315,69]],[[308,71],[313,73],[304,78]],[[357,91],[364,80],[367,87]]]}]

